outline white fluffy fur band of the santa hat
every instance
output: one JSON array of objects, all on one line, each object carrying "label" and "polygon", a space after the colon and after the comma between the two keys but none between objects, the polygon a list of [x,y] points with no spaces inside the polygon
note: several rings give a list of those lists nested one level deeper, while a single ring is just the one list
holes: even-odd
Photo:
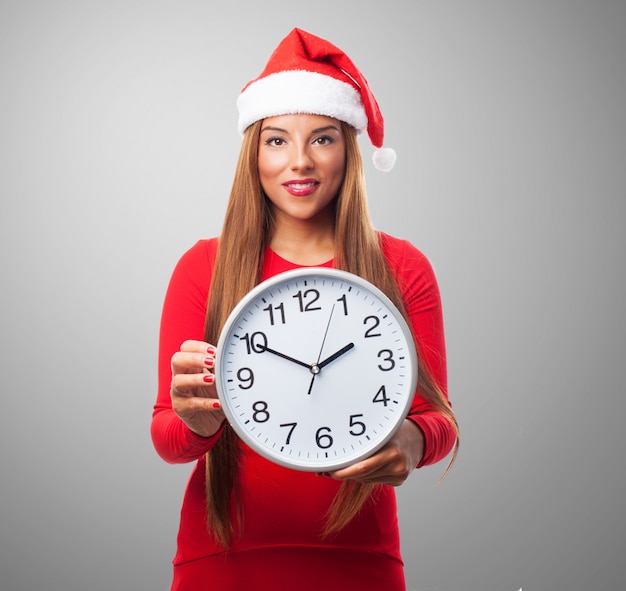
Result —
[{"label": "white fluffy fur band of the santa hat", "polygon": [[367,128],[367,115],[353,86],[305,70],[277,72],[251,82],[239,95],[237,108],[241,134],[260,119],[296,113],[333,117],[358,133]]}]

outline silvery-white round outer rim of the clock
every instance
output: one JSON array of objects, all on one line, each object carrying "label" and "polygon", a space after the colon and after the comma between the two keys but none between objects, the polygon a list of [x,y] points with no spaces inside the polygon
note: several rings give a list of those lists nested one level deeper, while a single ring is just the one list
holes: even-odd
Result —
[{"label": "silvery-white round outer rim of the clock", "polygon": [[[293,279],[302,279],[303,277],[313,276],[324,276],[328,278],[344,280],[350,283],[354,283],[359,287],[370,291],[372,294],[378,297],[393,313],[404,334],[407,344],[409,345],[409,371],[411,372],[411,385],[409,391],[413,394],[409,394],[406,397],[405,406],[398,413],[398,416],[401,418],[398,419],[394,427],[390,429],[389,432],[382,439],[377,441],[376,444],[367,447],[363,451],[355,452],[349,457],[344,456],[342,460],[335,462],[330,460],[321,460],[319,462],[304,462],[302,460],[299,460],[298,458],[287,458],[284,454],[279,455],[278,453],[273,452],[270,448],[265,447],[263,444],[259,443],[258,439],[255,439],[247,430],[245,430],[239,424],[239,421],[237,420],[234,411],[230,407],[229,397],[224,394],[225,385],[222,381],[220,371],[223,357],[222,352],[224,349],[224,343],[228,337],[228,333],[236,320],[240,317],[241,313],[247,308],[248,304],[257,299],[262,293],[264,293],[268,289],[271,289],[279,283],[284,283]],[[222,332],[220,333],[220,337],[217,343],[217,352],[215,354],[215,368],[217,370],[215,376],[215,385],[217,388],[218,399],[221,402],[221,407],[224,411],[224,414],[226,415],[226,420],[228,421],[229,426],[235,431],[237,436],[254,452],[258,453],[265,459],[274,462],[275,464],[281,465],[285,468],[290,468],[292,470],[298,470],[302,472],[326,472],[345,468],[372,456],[386,443],[388,443],[389,440],[398,431],[402,422],[404,421],[404,419],[406,419],[408,415],[408,412],[413,403],[413,399],[415,397],[419,371],[417,353],[415,351],[415,343],[413,341],[413,333],[411,332],[406,320],[404,319],[404,316],[400,313],[397,306],[380,288],[378,288],[370,281],[364,279],[360,275],[356,275],[355,273],[350,273],[349,271],[344,271],[343,269],[335,269],[332,267],[299,267],[297,269],[290,269],[288,271],[283,271],[282,273],[278,273],[277,275],[269,277],[268,279],[255,285],[247,294],[245,294],[241,298],[241,300],[239,300],[239,302],[235,305],[232,312],[226,319],[226,322],[224,323],[224,327],[222,328]]]}]

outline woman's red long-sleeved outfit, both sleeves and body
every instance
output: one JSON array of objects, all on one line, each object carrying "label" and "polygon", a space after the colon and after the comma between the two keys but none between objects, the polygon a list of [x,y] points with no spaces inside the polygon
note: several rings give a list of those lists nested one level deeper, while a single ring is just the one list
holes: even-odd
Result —
[{"label": "woman's red long-sleeved outfit, both sleeves and body", "polygon": [[[432,267],[410,243],[386,234],[381,237],[425,363],[447,393],[441,302]],[[200,437],[174,413],[170,363],[183,341],[203,339],[216,249],[217,239],[201,240],[183,255],[172,275],[161,320],[152,439],[167,462],[197,461],[183,501],[172,589],[404,589],[392,487],[381,487],[376,499],[346,528],[322,541],[325,514],[340,483],[273,464],[243,443],[243,534],[224,552],[207,531],[203,458],[219,434]],[[332,261],[323,266],[332,266]],[[262,279],[297,267],[267,249]],[[424,433],[425,451],[419,466],[435,463],[450,452],[455,441],[452,426],[418,395],[409,419]]]}]

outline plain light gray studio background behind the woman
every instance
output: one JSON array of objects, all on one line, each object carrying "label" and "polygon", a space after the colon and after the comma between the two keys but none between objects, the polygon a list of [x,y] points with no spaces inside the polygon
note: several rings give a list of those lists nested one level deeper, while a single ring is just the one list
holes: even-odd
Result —
[{"label": "plain light gray studio background behind the woman", "polygon": [[[453,472],[398,490],[409,589],[626,588],[626,3],[0,2],[0,588],[168,588],[190,466],[152,449],[161,302],[218,233],[235,100],[294,26],[398,152],[433,262]],[[295,588],[295,587],[294,587]]]}]

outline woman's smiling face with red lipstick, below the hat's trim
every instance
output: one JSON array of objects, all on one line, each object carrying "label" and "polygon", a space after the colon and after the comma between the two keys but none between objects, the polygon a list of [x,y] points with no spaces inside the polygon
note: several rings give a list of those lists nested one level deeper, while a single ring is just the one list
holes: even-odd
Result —
[{"label": "woman's smiling face with red lipstick, below the hat's trim", "polygon": [[345,164],[345,140],[336,119],[280,115],[263,120],[259,175],[277,222],[327,219]]}]

